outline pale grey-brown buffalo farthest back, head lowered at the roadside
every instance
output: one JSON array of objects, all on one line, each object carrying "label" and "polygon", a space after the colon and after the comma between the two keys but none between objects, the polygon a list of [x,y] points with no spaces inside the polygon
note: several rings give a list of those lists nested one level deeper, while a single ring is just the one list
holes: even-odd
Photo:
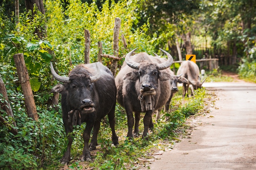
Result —
[{"label": "pale grey-brown buffalo farthest back, head lowered at the roadside", "polygon": [[200,70],[198,65],[189,60],[184,61],[180,64],[180,68],[177,71],[177,74],[182,74],[183,77],[189,80],[189,83],[183,83],[183,97],[189,97],[189,85],[191,84],[191,96],[194,95],[194,90],[201,88],[205,79],[201,82]]}]

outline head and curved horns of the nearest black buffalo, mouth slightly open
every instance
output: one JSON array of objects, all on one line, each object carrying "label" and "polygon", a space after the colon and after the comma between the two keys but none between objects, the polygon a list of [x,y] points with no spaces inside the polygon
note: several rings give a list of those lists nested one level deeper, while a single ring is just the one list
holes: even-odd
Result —
[{"label": "head and curved horns of the nearest black buffalo, mouth slightly open", "polygon": [[88,72],[88,68],[84,65],[79,65],[74,68],[69,77],[63,77],[58,75],[51,64],[51,72],[55,79],[64,84],[58,84],[54,86],[52,92],[65,93],[67,100],[70,101],[70,109],[80,110],[81,113],[91,113],[94,111],[95,100],[98,96],[94,90],[94,82],[96,82],[101,73],[97,67],[97,74],[90,75],[92,71]]}]

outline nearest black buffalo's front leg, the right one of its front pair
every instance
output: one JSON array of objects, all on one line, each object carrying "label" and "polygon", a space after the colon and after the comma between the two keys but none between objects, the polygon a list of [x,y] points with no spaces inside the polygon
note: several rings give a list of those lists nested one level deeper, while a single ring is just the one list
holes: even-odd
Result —
[{"label": "nearest black buffalo's front leg, the right one of its front pair", "polygon": [[90,122],[90,121],[86,122],[86,127],[85,127],[85,130],[83,131],[84,147],[83,147],[83,157],[81,161],[92,161],[88,143],[89,143],[90,133],[92,131],[93,125],[94,125],[93,122]]}]

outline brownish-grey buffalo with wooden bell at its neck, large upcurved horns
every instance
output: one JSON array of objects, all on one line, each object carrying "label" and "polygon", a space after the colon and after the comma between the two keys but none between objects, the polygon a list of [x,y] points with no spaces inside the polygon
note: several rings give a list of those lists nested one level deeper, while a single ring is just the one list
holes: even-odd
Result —
[{"label": "brownish-grey buffalo with wooden bell at its neck, large upcurved horns", "polygon": [[[162,108],[171,95],[170,82],[171,75],[164,69],[171,66],[173,57],[162,50],[168,60],[163,63],[156,63],[153,56],[147,53],[138,53],[131,57],[136,49],[126,55],[126,63],[121,67],[115,78],[117,85],[117,102],[126,109],[128,119],[127,137],[139,135],[140,113],[146,112],[144,122],[144,132],[142,138],[147,137],[148,128],[154,110]],[[135,129],[133,112],[135,112]]]}]

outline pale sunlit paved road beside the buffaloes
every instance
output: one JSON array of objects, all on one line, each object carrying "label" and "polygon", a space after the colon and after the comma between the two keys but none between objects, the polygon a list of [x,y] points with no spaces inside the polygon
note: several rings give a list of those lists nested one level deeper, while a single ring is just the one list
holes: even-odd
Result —
[{"label": "pale sunlit paved road beside the buffaloes", "polygon": [[204,83],[215,90],[215,107],[191,138],[153,162],[151,170],[256,170],[256,84],[245,82]]}]

